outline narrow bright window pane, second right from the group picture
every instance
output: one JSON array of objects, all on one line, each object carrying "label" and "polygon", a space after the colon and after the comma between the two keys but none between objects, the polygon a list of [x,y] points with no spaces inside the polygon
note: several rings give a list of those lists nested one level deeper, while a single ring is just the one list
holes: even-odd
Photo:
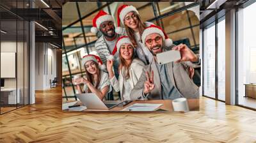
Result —
[{"label": "narrow bright window pane, second right from the group picture", "polygon": [[225,17],[218,22],[218,99],[225,101]]}]

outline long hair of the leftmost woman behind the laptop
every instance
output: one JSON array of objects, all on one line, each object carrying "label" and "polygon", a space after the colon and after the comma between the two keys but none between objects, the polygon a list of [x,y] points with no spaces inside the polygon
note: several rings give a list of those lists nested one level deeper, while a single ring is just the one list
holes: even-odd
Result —
[{"label": "long hair of the leftmost woman behind the laptop", "polygon": [[[91,82],[94,87],[98,88],[98,86],[100,84],[100,80],[101,80],[100,69],[99,69],[99,64],[98,63],[96,63],[95,61],[93,61],[93,63],[95,63],[95,66],[97,68],[97,77],[98,77],[95,85],[93,84],[93,75],[86,70],[85,64],[84,64],[84,69],[85,69],[85,73],[86,73],[86,79],[89,82]],[[87,88],[87,89],[88,89],[88,93],[92,93],[92,91],[89,88]]]}]

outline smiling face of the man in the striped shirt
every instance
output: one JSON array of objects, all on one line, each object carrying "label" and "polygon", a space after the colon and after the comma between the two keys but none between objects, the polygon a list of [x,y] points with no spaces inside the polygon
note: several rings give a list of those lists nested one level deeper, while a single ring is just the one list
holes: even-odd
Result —
[{"label": "smiling face of the man in the striped shirt", "polygon": [[100,31],[102,34],[108,38],[115,37],[115,26],[112,21],[105,21],[100,24]]}]

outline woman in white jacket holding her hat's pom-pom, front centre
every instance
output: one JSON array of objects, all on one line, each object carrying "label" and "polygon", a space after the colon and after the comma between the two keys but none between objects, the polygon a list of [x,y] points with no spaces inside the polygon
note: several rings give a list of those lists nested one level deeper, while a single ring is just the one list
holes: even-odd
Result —
[{"label": "woman in white jacket holding her hat's pom-pom, front centre", "polygon": [[140,79],[145,64],[134,57],[134,47],[128,36],[121,36],[116,41],[112,56],[119,54],[120,66],[119,77],[116,79],[113,72],[113,59],[107,61],[107,70],[111,86],[116,92],[120,91],[122,100],[131,100],[130,93]]}]

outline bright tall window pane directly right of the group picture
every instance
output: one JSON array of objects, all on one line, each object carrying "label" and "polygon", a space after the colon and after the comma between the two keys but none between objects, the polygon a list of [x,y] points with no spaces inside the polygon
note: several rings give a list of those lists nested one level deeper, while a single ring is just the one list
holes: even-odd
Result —
[{"label": "bright tall window pane directly right of the group picture", "polygon": [[215,98],[215,23],[204,29],[204,95]]}]

